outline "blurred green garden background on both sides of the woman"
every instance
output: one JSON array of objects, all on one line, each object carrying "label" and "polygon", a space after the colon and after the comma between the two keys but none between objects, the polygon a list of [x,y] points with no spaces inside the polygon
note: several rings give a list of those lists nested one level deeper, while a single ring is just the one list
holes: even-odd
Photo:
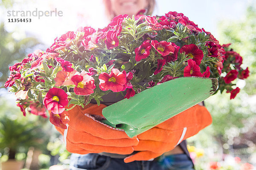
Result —
[{"label": "blurred green garden background on both sides of the woman", "polygon": [[[1,9],[11,9],[14,3],[7,0],[0,2]],[[204,26],[203,23],[201,26]],[[205,101],[213,122],[188,139],[189,150],[197,170],[206,170],[214,162],[218,162],[221,170],[241,169],[247,162],[256,166],[255,2],[248,3],[238,20],[218,20],[216,28],[220,43],[232,43],[231,47],[243,57],[242,68],[249,67],[250,77],[237,82],[241,92],[235,99],[230,100],[229,94],[224,93]],[[58,35],[62,33],[65,31]],[[52,42],[54,38],[51,38]],[[35,49],[45,50],[49,45],[26,31],[7,31],[4,22],[0,23],[0,161],[15,155],[15,159],[24,161],[26,169],[48,169],[53,164],[68,165],[70,156],[49,119],[35,115],[24,117],[16,106],[15,97],[3,88],[9,75],[9,65],[21,61]]]}]

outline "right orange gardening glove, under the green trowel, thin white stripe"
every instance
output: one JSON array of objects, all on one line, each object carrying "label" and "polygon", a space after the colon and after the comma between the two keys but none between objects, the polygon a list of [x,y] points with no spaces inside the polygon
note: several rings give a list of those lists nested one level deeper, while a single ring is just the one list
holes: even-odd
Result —
[{"label": "right orange gardening glove, under the green trowel, thin white stripe", "polygon": [[211,123],[212,117],[207,109],[195,105],[138,135],[140,142],[134,150],[140,152],[126,157],[124,161],[143,161],[161,156]]}]

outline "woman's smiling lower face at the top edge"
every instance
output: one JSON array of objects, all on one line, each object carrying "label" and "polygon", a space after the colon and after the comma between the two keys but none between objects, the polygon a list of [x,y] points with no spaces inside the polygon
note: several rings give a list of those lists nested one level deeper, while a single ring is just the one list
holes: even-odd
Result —
[{"label": "woman's smiling lower face at the top edge", "polygon": [[110,0],[111,7],[116,15],[128,14],[131,17],[148,6],[148,0]]}]

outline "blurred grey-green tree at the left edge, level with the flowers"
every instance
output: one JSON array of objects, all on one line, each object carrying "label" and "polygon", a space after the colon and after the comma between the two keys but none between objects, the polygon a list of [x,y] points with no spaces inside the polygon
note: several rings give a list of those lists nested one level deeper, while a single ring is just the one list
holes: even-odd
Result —
[{"label": "blurred grey-green tree at the left edge, level with the flowers", "polygon": [[21,61],[27,54],[27,49],[38,44],[35,38],[23,38],[16,40],[14,33],[7,32],[4,24],[0,24],[0,88],[3,88],[9,76],[9,65]]}]

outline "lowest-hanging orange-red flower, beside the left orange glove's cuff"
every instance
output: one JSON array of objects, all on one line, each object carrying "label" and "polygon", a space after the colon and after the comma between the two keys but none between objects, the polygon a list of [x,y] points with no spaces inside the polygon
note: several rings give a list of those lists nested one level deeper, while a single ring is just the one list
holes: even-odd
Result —
[{"label": "lowest-hanging orange-red flower, beside the left orange glove's cuff", "polygon": [[70,121],[69,114],[67,111],[64,111],[60,114],[50,113],[50,122],[62,129],[67,129],[67,123]]}]

